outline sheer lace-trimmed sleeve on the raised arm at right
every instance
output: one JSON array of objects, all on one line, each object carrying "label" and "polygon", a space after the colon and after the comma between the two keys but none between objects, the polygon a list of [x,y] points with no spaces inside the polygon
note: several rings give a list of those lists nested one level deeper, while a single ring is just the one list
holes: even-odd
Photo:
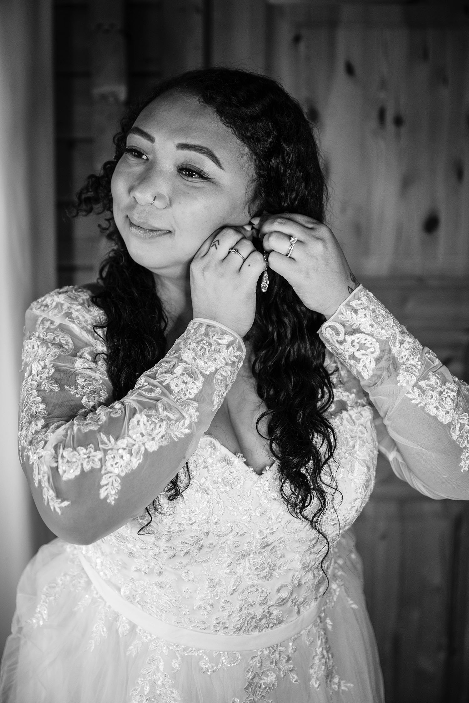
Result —
[{"label": "sheer lace-trimmed sleeve on the raised arm at right", "polygon": [[379,449],[396,475],[432,498],[468,500],[468,384],[363,285],[319,335],[368,394]]}]

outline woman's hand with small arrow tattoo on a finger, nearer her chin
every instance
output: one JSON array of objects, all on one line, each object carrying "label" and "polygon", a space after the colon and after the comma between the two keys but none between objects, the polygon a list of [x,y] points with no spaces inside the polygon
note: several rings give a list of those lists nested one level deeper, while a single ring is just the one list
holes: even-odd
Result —
[{"label": "woman's hand with small arrow tattoo on a finger, nearer her chin", "polygon": [[257,280],[266,267],[246,234],[241,226],[224,227],[205,240],[190,266],[193,316],[226,325],[240,337],[254,322]]}]

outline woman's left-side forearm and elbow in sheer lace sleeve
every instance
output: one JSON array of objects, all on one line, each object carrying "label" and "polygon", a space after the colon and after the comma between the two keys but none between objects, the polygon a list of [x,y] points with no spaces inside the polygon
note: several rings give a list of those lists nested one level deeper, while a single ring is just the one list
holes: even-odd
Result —
[{"label": "woman's left-side forearm and elbow in sheer lace sleeve", "polygon": [[195,451],[244,355],[237,335],[192,321],[167,356],[110,406],[45,422],[28,435],[41,405],[23,404],[20,425],[29,441],[20,456],[34,499],[40,491],[52,508],[49,527],[69,541],[94,541],[143,512]]}]

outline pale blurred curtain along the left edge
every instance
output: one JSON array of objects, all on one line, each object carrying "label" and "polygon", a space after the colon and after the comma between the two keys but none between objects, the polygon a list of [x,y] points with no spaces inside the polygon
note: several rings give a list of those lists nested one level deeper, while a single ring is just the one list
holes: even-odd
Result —
[{"label": "pale blurred curtain along the left edge", "polygon": [[56,287],[51,0],[0,0],[0,651],[47,532],[18,461],[25,309]]}]

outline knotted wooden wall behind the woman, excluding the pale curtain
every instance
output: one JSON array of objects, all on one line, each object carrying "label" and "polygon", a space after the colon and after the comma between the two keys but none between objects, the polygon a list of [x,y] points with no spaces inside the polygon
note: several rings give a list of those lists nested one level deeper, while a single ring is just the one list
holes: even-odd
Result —
[{"label": "knotted wooden wall behind the woman, excluding the pale curtain", "polygon": [[[65,210],[112,156],[122,103],[187,68],[250,67],[318,127],[356,276],[469,380],[468,4],[55,0],[55,35],[60,285],[96,278],[96,218]],[[380,460],[355,532],[387,703],[467,702],[468,504],[430,501]]]}]

